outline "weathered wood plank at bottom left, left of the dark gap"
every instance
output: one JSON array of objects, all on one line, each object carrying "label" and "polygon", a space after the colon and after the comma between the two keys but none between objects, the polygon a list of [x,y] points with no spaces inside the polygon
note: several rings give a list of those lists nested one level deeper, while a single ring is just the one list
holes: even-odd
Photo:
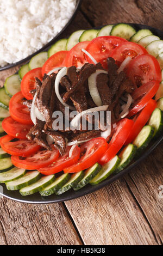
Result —
[{"label": "weathered wood plank at bottom left, left of the dark gap", "polygon": [[81,245],[64,206],[0,199],[0,244]]}]

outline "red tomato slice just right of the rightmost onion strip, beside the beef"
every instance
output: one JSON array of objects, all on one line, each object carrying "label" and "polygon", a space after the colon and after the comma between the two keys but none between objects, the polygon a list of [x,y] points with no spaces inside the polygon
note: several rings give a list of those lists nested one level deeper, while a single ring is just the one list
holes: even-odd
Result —
[{"label": "red tomato slice just right of the rightmost onion strip, beside the beef", "polygon": [[158,81],[150,81],[134,90],[132,97],[135,103],[134,107],[130,110],[128,117],[141,111],[141,109],[147,105],[147,102],[156,94],[159,86],[160,83]]}]

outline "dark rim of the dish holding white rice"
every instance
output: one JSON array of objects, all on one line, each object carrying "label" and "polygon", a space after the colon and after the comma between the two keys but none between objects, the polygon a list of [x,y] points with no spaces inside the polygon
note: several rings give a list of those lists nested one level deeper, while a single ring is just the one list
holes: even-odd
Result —
[{"label": "dark rim of the dish holding white rice", "polygon": [[5,69],[10,69],[12,68],[13,66],[17,66],[17,65],[20,65],[24,62],[28,62],[29,59],[31,59],[33,56],[35,56],[37,53],[39,52],[42,52],[42,51],[46,51],[47,48],[49,48],[49,46],[51,46],[52,44],[54,44],[54,42],[56,42],[59,38],[59,36],[61,35],[62,32],[65,31],[65,29],[67,28],[68,25],[70,25],[71,21],[74,19],[74,17],[76,16],[77,14],[77,11],[80,7],[80,4],[82,3],[82,0],[77,0],[77,5],[76,5],[76,8],[74,9],[74,12],[72,14],[72,17],[70,18],[70,20],[67,22],[67,24],[65,25],[64,28],[62,28],[62,30],[51,40],[48,42],[48,44],[44,45],[40,50],[34,52],[33,54],[30,54],[27,58],[24,58],[22,60],[20,60],[19,62],[15,62],[15,63],[12,63],[12,64],[7,64],[3,67],[0,67],[0,71],[2,70],[5,70]]}]

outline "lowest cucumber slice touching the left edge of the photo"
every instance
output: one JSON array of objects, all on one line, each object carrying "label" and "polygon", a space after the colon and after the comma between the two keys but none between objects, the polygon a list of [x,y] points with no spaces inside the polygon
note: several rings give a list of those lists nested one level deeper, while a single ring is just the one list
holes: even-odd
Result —
[{"label": "lowest cucumber slice touching the left edge of the photo", "polygon": [[0,183],[9,182],[21,178],[26,173],[25,169],[17,167],[8,170],[7,172],[0,173]]}]

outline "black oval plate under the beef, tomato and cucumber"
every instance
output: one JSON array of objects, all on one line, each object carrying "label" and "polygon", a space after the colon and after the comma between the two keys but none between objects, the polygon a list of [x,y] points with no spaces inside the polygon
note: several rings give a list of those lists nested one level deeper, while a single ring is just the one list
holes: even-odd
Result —
[{"label": "black oval plate under the beef, tomato and cucumber", "polygon": [[[136,31],[139,29],[150,29],[154,35],[158,35],[161,39],[163,39],[163,32],[159,31],[158,29],[141,25],[141,24],[133,24],[129,23],[131,26],[133,26]],[[85,196],[86,194],[92,193],[94,191],[99,190],[102,187],[105,187],[106,185],[110,184],[111,182],[119,179],[124,174],[128,173],[131,169],[133,169],[137,164],[139,164],[142,160],[144,160],[157,146],[158,144],[163,140],[163,134],[157,138],[154,139],[149,147],[146,149],[145,153],[139,157],[139,159],[134,160],[127,168],[122,170],[122,172],[110,176],[110,178],[102,181],[98,185],[91,186],[90,184],[86,185],[79,191],[73,191],[72,189],[57,196],[55,194],[52,194],[48,197],[41,197],[39,193],[32,194],[31,196],[23,197],[18,191],[9,191],[7,190],[6,186],[4,184],[0,185],[0,194],[4,197],[7,197],[9,199],[23,202],[23,203],[31,203],[31,204],[49,204],[49,203],[58,203],[58,202],[64,202],[67,200],[72,200],[74,198]],[[1,186],[3,187],[3,192],[1,192]]]}]

